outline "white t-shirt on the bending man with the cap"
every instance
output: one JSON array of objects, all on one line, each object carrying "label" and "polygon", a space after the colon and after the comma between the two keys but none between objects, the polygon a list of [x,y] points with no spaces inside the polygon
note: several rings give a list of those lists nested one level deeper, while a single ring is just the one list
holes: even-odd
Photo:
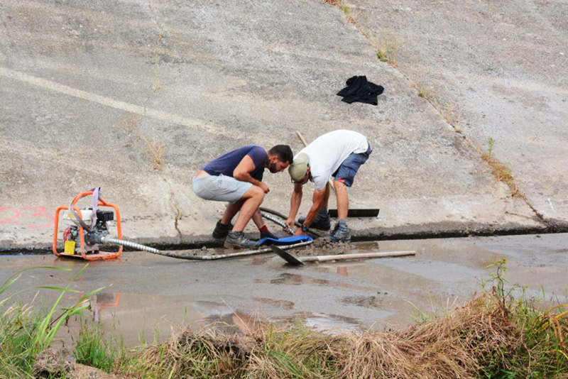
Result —
[{"label": "white t-shirt on the bending man with the cap", "polygon": [[327,180],[351,153],[365,153],[367,149],[367,138],[363,134],[340,129],[316,138],[300,153],[308,156],[316,189],[323,189]]}]

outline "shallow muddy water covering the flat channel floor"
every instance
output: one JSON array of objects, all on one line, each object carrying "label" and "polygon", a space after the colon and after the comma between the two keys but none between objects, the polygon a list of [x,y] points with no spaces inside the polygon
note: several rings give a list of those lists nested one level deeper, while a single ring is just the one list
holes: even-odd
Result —
[{"label": "shallow muddy water covering the flat channel floor", "polygon": [[[440,313],[468,300],[494,272],[486,266],[500,258],[506,258],[510,285],[525,285],[530,296],[567,302],[568,234],[381,241],[337,249],[316,245],[298,255],[402,250],[417,254],[300,267],[273,254],[194,262],[126,252],[119,260],[90,263],[71,287],[87,292],[106,286],[94,297],[89,317],[109,334],[121,334],[127,346],[164,339],[180,324],[200,329],[219,322],[236,331],[258,320],[300,319],[332,331],[404,326],[420,312]],[[55,256],[0,256],[0,282],[32,266],[72,269],[24,273],[11,292],[27,287],[18,300],[31,302],[34,287],[64,286],[83,264]],[[40,290],[35,307],[57,295]],[[78,298],[70,294],[67,304]]]}]

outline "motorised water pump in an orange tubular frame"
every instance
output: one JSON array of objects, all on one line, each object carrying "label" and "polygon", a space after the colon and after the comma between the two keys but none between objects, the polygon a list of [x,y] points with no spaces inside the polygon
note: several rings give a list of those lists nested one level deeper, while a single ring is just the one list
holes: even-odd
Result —
[{"label": "motorised water pump in an orange tubular frame", "polygon": [[[56,256],[70,256],[86,260],[101,260],[118,258],[122,253],[122,246],[116,253],[99,250],[104,238],[109,234],[108,222],[114,220],[116,215],[116,229],[118,238],[122,238],[120,212],[116,205],[107,203],[99,195],[100,187],[77,194],[69,207],[58,207],[55,210],[55,231],[53,233],[53,253]],[[78,208],[75,206],[83,197],[92,196],[92,207]],[[114,209],[103,210],[99,207]],[[59,215],[63,212],[62,224],[67,226],[62,233],[65,243],[64,250],[58,251]]]}]

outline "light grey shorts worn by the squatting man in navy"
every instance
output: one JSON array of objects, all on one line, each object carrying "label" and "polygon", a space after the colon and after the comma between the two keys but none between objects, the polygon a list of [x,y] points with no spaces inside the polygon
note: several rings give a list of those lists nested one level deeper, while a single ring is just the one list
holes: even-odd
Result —
[{"label": "light grey shorts worn by the squatting man in navy", "polygon": [[209,175],[193,178],[193,192],[206,200],[238,202],[253,185],[225,175]]}]

